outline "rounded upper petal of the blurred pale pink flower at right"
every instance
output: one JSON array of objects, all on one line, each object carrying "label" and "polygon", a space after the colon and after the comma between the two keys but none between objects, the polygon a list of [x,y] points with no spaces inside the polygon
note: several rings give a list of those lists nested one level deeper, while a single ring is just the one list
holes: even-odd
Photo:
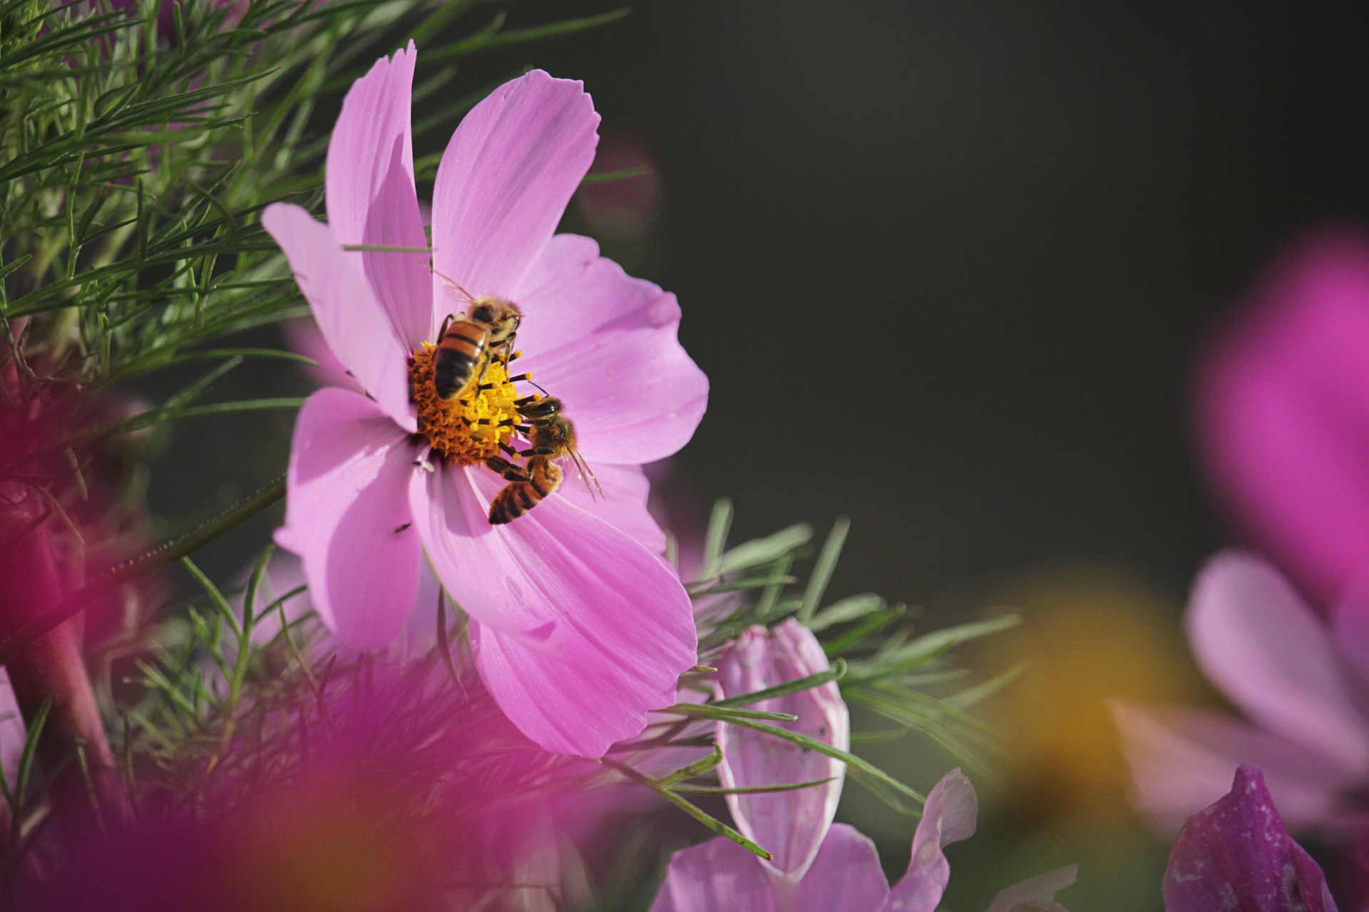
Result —
[{"label": "rounded upper petal of the blurred pale pink flower at right", "polygon": [[1347,766],[1369,766],[1369,723],[1327,630],[1277,570],[1235,552],[1213,558],[1194,584],[1187,623],[1198,665],[1251,719]]}]

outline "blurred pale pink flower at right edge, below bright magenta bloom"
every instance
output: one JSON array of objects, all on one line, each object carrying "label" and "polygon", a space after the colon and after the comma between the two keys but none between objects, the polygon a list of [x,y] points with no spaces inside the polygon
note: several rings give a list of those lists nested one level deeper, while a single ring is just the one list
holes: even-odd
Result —
[{"label": "blurred pale pink flower at right edge, below bright magenta bloom", "polygon": [[1369,613],[1328,626],[1268,563],[1220,554],[1186,617],[1199,667],[1250,719],[1218,710],[1117,704],[1136,803],[1170,833],[1227,792],[1242,763],[1264,770],[1294,830],[1369,835]]}]

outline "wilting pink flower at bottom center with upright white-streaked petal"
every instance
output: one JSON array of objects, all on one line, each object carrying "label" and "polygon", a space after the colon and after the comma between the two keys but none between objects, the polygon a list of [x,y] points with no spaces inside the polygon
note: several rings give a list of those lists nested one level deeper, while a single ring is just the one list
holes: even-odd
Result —
[{"label": "wilting pink flower at bottom center with upright white-streaked petal", "polygon": [[[786,621],[775,630],[752,628],[716,662],[719,697],[752,693],[817,674],[828,666],[808,628]],[[798,732],[846,749],[850,723],[835,682],[765,700],[754,708],[797,715]],[[893,889],[875,844],[843,823],[832,824],[846,767],[815,751],[749,729],[719,726],[727,788],[823,785],[793,792],[728,794],[737,829],[775,857],[763,861],[731,840],[717,838],[678,852],[652,912],[932,912],[950,878],[942,849],[975,831],[977,799],[960,770],[936,783],[913,837],[908,874]],[[1064,912],[1055,890],[1073,883],[1061,868],[998,894],[988,912]],[[1039,905],[1031,905],[1039,904]]]}]

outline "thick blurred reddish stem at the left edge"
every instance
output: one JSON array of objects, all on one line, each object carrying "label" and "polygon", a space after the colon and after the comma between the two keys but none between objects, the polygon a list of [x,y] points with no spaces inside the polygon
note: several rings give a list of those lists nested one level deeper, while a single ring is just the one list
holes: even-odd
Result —
[{"label": "thick blurred reddish stem at the left edge", "polygon": [[[36,524],[25,513],[12,509],[0,517],[0,626],[5,629],[62,599],[47,522]],[[57,816],[75,823],[94,809],[111,822],[125,819],[127,803],[81,655],[78,621],[36,639],[5,667],[26,725],[52,700],[37,756]]]}]

